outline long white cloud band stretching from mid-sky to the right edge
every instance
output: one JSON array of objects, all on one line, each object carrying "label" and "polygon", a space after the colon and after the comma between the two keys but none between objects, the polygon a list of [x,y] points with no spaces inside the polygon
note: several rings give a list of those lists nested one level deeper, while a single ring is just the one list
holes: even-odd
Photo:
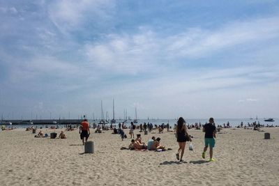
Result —
[{"label": "long white cloud band stretching from mid-sky to the right edge", "polygon": [[104,42],[86,45],[84,53],[103,70],[136,74],[214,55],[229,47],[252,47],[255,43],[279,38],[278,22],[279,17],[232,22],[215,31],[188,29],[165,38],[160,33],[141,29],[136,34],[109,35]]}]

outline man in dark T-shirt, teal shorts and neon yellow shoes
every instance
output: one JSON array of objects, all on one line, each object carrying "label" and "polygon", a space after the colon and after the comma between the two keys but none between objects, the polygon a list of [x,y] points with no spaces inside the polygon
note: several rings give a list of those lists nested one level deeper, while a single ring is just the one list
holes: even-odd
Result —
[{"label": "man in dark T-shirt, teal shorts and neon yellow shoes", "polygon": [[216,138],[216,127],[214,124],[214,119],[209,118],[209,123],[206,123],[204,127],[202,128],[202,132],[205,132],[204,134],[204,152],[202,152],[202,158],[205,158],[205,153],[207,148],[209,147],[209,162],[215,161],[213,156],[213,148],[215,146],[215,139]]}]

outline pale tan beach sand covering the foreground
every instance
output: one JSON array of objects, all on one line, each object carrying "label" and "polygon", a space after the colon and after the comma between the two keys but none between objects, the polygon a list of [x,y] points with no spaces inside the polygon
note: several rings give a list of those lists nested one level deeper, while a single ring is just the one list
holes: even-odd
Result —
[{"label": "pale tan beach sand covering the foreground", "polygon": [[[118,134],[93,133],[93,154],[84,154],[78,130],[65,132],[68,139],[34,138],[23,129],[0,132],[0,185],[279,185],[279,128],[263,128],[271,133],[244,129],[218,132],[213,157],[203,160],[204,134],[189,130],[194,150],[186,151],[178,162],[174,132],[142,134],[147,142],[160,137],[165,152],[120,150],[130,138]],[[43,132],[61,130],[43,130]],[[37,130],[38,132],[38,130]],[[140,133],[135,130],[135,134]],[[220,134],[221,133],[221,134]]]}]

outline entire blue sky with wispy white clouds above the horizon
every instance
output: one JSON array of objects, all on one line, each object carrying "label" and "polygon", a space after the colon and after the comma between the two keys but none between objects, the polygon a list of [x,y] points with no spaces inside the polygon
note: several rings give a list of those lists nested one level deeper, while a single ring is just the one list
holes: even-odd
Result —
[{"label": "entire blue sky with wispy white clouds above the horizon", "polygon": [[278,1],[0,1],[4,118],[278,117]]}]

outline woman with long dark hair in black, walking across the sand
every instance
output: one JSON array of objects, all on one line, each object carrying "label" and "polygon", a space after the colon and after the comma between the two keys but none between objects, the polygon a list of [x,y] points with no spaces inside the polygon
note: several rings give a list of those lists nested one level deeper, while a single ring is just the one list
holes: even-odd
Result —
[{"label": "woman with long dark hair in black, walking across the sand", "polygon": [[[176,153],[176,159],[179,160],[179,162],[183,162],[182,157],[184,155],[184,150],[186,146],[186,141],[192,141],[190,139],[187,127],[185,124],[185,120],[180,117],[177,121],[177,127],[176,127],[176,136],[177,136],[177,142],[179,143],[179,150]],[[181,152],[180,159],[179,159],[179,153]]]}]

